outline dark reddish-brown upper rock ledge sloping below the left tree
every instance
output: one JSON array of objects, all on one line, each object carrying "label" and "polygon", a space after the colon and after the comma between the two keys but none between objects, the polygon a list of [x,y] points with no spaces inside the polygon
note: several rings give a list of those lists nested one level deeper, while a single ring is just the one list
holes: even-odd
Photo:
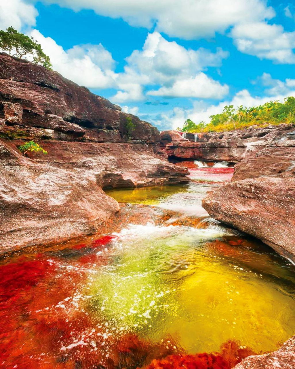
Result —
[{"label": "dark reddish-brown upper rock ledge sloping below the left tree", "polygon": [[[131,140],[158,144],[161,139],[157,128],[150,123],[123,113],[119,106],[91,93],[86,87],[78,86],[57,72],[5,53],[0,53],[1,100],[20,104],[24,111],[24,123],[33,121],[35,127],[52,128],[48,127],[50,117],[46,117],[46,114],[50,114],[59,116],[65,122],[80,125],[80,133],[82,129],[96,132],[96,135],[85,134],[85,137],[91,137],[94,141],[107,141],[108,132],[116,131],[113,139],[122,142],[128,138],[125,127],[126,118],[130,117],[135,126],[130,132]],[[55,130],[63,128],[62,132],[65,129],[71,131],[62,121],[53,124],[57,124]]]}]

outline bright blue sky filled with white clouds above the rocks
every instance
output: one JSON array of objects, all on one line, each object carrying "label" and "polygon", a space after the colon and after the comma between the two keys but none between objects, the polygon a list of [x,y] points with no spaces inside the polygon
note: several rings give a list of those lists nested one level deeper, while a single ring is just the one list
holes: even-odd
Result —
[{"label": "bright blue sky filled with white clouds above the rocks", "polygon": [[0,29],[159,130],[295,96],[295,5],[264,0],[0,0]]}]

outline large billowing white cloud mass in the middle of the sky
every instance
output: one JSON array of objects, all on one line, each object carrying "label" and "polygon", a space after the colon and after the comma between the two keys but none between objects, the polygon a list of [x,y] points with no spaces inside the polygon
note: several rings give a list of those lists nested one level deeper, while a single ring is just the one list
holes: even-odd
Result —
[{"label": "large billowing white cloud mass in the middle of the sky", "polygon": [[217,48],[216,53],[199,48],[186,49],[175,41],[167,41],[159,32],[148,34],[142,50],[134,50],[126,58],[123,73],[115,77],[119,92],[117,103],[144,99],[143,86],[160,86],[154,96],[213,97],[224,96],[226,85],[207,77],[200,70],[220,66],[228,52]]}]

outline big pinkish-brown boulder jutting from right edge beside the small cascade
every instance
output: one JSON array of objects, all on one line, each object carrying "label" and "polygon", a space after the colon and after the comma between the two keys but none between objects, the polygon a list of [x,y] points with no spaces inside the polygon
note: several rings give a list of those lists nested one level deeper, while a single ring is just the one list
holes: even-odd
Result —
[{"label": "big pinkish-brown boulder jutting from right edge beside the small cascade", "polygon": [[295,177],[225,183],[203,200],[211,217],[295,260]]}]

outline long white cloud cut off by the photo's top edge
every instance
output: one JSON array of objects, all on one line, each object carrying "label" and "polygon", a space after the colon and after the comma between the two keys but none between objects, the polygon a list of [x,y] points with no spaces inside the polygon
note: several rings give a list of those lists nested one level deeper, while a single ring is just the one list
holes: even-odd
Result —
[{"label": "long white cloud cut off by the photo's top edge", "polygon": [[171,37],[194,39],[214,36],[230,26],[274,17],[264,0],[46,0],[60,6],[93,9],[97,14],[122,17],[130,25],[165,32]]}]

